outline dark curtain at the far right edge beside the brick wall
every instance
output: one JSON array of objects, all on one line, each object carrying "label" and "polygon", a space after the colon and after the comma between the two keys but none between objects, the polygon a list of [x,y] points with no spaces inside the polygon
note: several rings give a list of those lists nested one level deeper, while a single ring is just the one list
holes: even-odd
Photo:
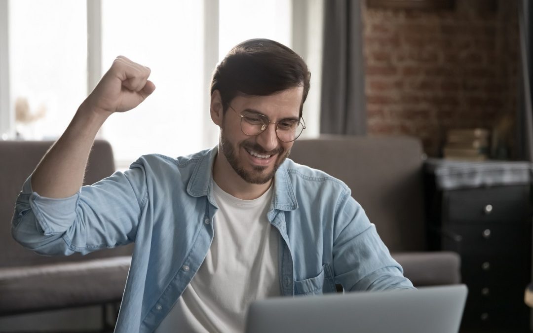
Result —
[{"label": "dark curtain at the far right edge beside the brick wall", "polygon": [[518,158],[533,161],[533,110],[531,108],[531,38],[533,37],[533,7],[522,0],[519,11],[521,88],[516,119]]}]

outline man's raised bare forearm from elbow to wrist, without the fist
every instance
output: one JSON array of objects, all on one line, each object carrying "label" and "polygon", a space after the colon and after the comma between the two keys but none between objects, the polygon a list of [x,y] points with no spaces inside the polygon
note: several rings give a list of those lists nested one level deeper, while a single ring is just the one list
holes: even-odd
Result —
[{"label": "man's raised bare forearm from elbow to wrist, without the fist", "polygon": [[98,130],[107,119],[86,102],[31,176],[31,187],[43,197],[67,198],[83,184],[87,158]]}]

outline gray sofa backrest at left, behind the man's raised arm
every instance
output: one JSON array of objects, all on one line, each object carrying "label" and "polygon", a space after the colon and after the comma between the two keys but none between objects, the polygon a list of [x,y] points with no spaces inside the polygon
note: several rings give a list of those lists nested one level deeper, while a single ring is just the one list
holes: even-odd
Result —
[{"label": "gray sofa backrest at left, behind the man's raised arm", "polygon": [[[40,256],[23,248],[11,237],[11,218],[22,184],[33,172],[52,141],[0,141],[0,267],[79,261],[131,254],[131,247],[96,251],[86,256]],[[92,184],[115,171],[113,152],[107,141],[94,142],[84,184]]]}]

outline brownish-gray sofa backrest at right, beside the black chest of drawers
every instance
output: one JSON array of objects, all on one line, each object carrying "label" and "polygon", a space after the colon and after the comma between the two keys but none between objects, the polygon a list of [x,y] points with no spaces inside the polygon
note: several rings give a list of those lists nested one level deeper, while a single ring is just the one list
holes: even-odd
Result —
[{"label": "brownish-gray sofa backrest at right, beside the black chest of drawers", "polygon": [[391,251],[426,249],[418,139],[324,135],[296,140],[289,158],[344,181]]}]

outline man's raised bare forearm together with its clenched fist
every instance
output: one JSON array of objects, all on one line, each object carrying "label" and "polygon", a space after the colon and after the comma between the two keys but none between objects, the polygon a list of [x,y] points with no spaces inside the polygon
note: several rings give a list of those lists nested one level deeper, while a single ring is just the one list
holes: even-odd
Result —
[{"label": "man's raised bare forearm together with its clenched fist", "polygon": [[154,92],[156,86],[149,76],[148,67],[117,56],[35,169],[31,188],[48,198],[74,195],[83,184],[96,133],[112,113],[131,110]]}]

